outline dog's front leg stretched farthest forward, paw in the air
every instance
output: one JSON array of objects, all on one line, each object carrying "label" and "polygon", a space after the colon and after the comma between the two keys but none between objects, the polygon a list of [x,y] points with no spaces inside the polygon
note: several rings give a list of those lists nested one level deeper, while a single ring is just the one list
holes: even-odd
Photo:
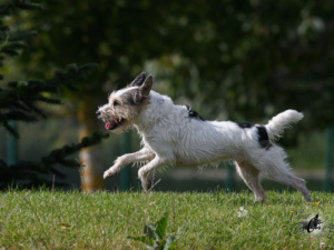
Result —
[{"label": "dog's front leg stretched farthest forward, paw in the air", "polygon": [[114,166],[109,168],[107,171],[105,171],[104,179],[116,176],[121,170],[121,168],[128,163],[138,162],[138,161],[149,161],[154,157],[155,153],[147,148],[143,148],[138,152],[127,153],[121,157],[118,157]]}]

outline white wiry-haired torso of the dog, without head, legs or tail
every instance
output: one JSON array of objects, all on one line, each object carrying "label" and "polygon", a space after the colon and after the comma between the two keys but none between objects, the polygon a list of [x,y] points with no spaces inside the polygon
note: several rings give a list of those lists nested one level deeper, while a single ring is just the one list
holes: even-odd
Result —
[{"label": "white wiry-haired torso of the dog, without head, legs or tail", "polygon": [[137,128],[144,142],[157,153],[160,150],[166,152],[165,147],[171,148],[170,163],[178,166],[200,166],[224,159],[244,160],[247,157],[244,148],[259,148],[255,126],[246,129],[232,121],[207,121],[197,112],[194,116],[194,112],[151,91]]}]

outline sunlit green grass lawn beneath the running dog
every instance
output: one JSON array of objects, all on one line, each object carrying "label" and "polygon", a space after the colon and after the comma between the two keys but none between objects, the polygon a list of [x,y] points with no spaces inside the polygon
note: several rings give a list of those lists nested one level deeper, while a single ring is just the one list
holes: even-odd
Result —
[{"label": "sunlit green grass lawn beneath the running dog", "polygon": [[[175,193],[14,191],[0,193],[0,249],[146,249],[127,239],[169,212],[167,237],[177,249],[334,248],[334,198],[312,192],[318,204],[297,192]],[[243,207],[248,213],[238,217]],[[294,211],[294,212],[292,212]],[[316,213],[322,230],[307,233],[295,223]],[[291,229],[294,229],[291,233]]]}]

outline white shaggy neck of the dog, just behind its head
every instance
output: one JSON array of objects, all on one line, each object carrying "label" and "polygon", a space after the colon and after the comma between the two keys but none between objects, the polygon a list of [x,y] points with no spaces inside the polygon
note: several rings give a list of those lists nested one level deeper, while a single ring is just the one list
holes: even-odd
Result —
[{"label": "white shaggy neck of the dog, just behind its head", "polygon": [[145,133],[147,130],[159,123],[164,117],[173,110],[173,100],[159,94],[158,92],[150,91],[147,106],[143,108],[139,117],[136,119],[134,126],[139,133]]}]

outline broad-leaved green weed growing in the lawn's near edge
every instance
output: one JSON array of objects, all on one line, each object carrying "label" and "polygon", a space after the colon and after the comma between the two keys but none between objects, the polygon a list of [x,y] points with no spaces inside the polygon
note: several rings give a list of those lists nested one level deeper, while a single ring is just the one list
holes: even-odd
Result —
[{"label": "broad-leaved green weed growing in the lawn's near edge", "polygon": [[166,212],[155,224],[146,223],[141,237],[128,237],[146,244],[148,249],[168,250],[175,249],[177,237],[170,236],[165,239],[167,229],[168,212]]}]

